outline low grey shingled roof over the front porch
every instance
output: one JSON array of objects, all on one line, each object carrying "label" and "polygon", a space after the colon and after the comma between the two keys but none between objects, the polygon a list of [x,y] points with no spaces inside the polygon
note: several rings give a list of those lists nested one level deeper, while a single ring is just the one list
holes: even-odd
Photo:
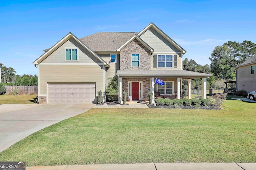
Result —
[{"label": "low grey shingled roof over the front porch", "polygon": [[186,70],[118,70],[117,76],[120,77],[181,77],[181,78],[208,78],[212,74],[206,74],[201,72],[193,72]]}]

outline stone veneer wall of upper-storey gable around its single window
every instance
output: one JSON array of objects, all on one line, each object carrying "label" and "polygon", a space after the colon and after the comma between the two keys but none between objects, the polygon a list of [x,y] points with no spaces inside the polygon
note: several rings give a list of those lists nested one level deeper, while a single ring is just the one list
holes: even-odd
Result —
[{"label": "stone veneer wall of upper-storey gable around its single window", "polygon": [[[132,54],[139,54],[138,67],[132,67]],[[120,51],[120,70],[150,70],[151,52],[140,41],[134,39]]]}]

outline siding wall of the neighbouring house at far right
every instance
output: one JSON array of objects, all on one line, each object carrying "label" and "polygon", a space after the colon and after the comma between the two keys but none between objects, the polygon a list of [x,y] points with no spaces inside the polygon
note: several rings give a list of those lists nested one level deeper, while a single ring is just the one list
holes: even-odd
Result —
[{"label": "siding wall of the neighbouring house at far right", "polygon": [[256,90],[256,71],[254,74],[251,74],[251,66],[256,64],[251,64],[248,66],[242,66],[237,69],[238,76],[238,90],[246,90],[247,92],[252,92]]}]

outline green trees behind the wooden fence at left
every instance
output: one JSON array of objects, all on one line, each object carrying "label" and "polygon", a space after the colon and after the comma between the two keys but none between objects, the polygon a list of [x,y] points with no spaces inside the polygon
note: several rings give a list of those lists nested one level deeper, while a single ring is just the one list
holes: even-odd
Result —
[{"label": "green trees behind the wooden fence at left", "polygon": [[16,75],[16,71],[12,67],[1,67],[1,82],[4,83],[4,85],[10,85],[10,86],[37,86],[38,84],[38,78],[36,74],[28,75]]}]

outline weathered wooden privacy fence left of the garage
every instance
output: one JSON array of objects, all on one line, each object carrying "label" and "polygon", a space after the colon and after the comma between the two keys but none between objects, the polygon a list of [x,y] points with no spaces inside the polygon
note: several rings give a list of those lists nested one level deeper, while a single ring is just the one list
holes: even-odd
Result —
[{"label": "weathered wooden privacy fence left of the garage", "polygon": [[15,91],[17,91],[18,94],[38,94],[37,86],[5,86],[5,88],[6,94],[14,94]]}]

